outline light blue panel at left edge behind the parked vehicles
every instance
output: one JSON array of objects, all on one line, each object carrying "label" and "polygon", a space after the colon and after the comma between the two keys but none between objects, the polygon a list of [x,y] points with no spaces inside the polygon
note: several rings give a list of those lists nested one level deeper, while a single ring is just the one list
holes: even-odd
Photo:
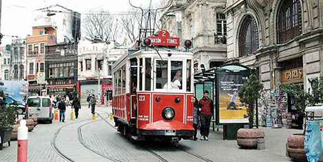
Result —
[{"label": "light blue panel at left edge behind the parked vehicles", "polygon": [[23,101],[28,94],[28,81],[1,81],[0,90],[8,94],[17,101]]}]

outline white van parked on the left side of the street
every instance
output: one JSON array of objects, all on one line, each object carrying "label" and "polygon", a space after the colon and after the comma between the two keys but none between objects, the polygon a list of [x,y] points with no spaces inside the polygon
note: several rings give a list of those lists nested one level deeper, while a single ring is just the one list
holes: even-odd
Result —
[{"label": "white van parked on the left side of the street", "polygon": [[50,97],[28,97],[27,99],[29,117],[37,117],[39,121],[52,123],[52,102]]}]

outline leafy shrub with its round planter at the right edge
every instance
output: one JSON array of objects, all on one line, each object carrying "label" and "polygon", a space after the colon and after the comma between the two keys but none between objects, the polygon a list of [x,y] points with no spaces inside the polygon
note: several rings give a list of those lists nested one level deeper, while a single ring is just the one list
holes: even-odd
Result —
[{"label": "leafy shrub with its round planter at the right edge", "polygon": [[[308,105],[323,103],[323,77],[311,81],[311,92],[306,92],[302,85],[282,84],[280,90],[287,92],[294,99],[294,107],[298,114],[306,117],[305,108]],[[286,152],[293,161],[306,161],[304,151],[304,132],[302,134],[292,134],[287,139]]]}]

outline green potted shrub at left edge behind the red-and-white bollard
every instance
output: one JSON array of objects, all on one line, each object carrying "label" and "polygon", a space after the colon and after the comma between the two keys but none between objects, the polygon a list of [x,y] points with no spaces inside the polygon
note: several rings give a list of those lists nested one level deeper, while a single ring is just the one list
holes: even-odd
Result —
[{"label": "green potted shrub at left edge behind the red-and-white bollard", "polygon": [[3,144],[8,142],[10,146],[10,139],[12,134],[12,125],[16,121],[17,108],[10,105],[0,106],[0,150],[3,148]]}]

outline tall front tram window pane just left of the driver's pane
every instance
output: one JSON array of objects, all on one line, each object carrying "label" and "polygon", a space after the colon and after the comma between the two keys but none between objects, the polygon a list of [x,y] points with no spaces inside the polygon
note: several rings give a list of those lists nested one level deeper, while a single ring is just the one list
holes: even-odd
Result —
[{"label": "tall front tram window pane just left of the driver's pane", "polygon": [[168,61],[156,61],[156,89],[167,89]]}]

